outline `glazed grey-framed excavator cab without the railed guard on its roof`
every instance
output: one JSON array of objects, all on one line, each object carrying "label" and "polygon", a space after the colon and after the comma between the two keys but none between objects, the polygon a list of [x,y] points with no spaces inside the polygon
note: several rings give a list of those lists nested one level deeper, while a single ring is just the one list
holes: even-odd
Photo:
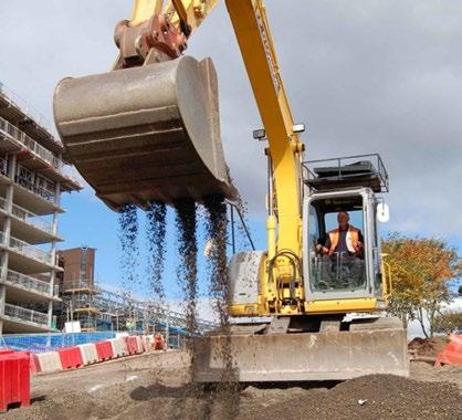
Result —
[{"label": "glazed grey-framed excavator cab without the railed guard on its roof", "polygon": [[[307,301],[370,297],[380,293],[381,282],[377,284],[380,280],[380,244],[375,208],[376,199],[369,188],[308,196],[305,218]],[[339,213],[349,216],[349,227],[358,230],[358,243],[355,249],[347,238],[346,249],[329,252]]]}]

